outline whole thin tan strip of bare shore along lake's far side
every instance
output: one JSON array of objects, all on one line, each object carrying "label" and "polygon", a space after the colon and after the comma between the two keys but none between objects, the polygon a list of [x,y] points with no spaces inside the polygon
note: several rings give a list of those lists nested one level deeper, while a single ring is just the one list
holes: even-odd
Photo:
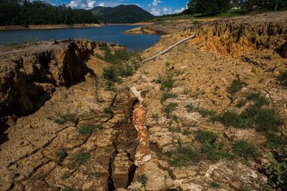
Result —
[{"label": "whole thin tan strip of bare shore along lake's far side", "polygon": [[130,25],[130,26],[137,26],[137,25],[150,25],[153,23],[135,23],[135,24],[73,24],[73,25],[66,25],[66,24],[47,24],[47,25],[30,25],[28,27],[24,26],[0,26],[1,30],[40,30],[40,29],[56,29],[56,28],[94,28],[94,27],[101,27],[101,26],[111,26],[111,25]]}]

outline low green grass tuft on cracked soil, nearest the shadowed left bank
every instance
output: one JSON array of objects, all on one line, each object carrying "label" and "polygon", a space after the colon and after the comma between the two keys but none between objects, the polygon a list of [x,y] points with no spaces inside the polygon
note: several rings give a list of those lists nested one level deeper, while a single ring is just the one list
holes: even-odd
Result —
[{"label": "low green grass tuft on cracked soil, nearest the shadowed left bank", "polygon": [[72,113],[69,109],[66,109],[64,113],[60,111],[55,111],[55,117],[48,117],[49,120],[53,122],[64,125],[66,122],[73,122],[74,124],[78,124],[79,118],[76,113]]}]

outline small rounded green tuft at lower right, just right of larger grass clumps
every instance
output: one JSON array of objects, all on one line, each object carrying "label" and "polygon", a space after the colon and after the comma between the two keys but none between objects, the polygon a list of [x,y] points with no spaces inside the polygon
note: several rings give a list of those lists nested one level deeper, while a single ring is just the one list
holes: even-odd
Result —
[{"label": "small rounded green tuft at lower right, just right of larger grass clumps", "polygon": [[236,156],[244,158],[245,160],[254,159],[259,156],[259,152],[254,145],[245,140],[239,140],[237,143],[234,143],[234,145],[232,145],[232,151]]}]

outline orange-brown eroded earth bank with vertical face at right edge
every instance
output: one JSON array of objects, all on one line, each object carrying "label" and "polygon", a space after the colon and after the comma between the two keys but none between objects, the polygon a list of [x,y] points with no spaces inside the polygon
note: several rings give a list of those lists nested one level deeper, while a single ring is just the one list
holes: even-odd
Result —
[{"label": "orange-brown eroded earth bank with vertical face at right edge", "polygon": [[193,39],[194,44],[238,57],[251,51],[276,50],[282,46],[287,40],[287,18],[286,12],[277,12],[220,19],[186,31],[197,36]]}]

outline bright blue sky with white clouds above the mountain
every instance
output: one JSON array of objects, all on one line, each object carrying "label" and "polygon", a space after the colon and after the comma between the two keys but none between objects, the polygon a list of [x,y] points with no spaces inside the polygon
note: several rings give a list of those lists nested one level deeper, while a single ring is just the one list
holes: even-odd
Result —
[{"label": "bright blue sky with white clouds above the mountain", "polygon": [[44,0],[53,5],[65,3],[71,8],[89,9],[95,6],[119,6],[121,4],[136,4],[148,10],[153,15],[164,15],[181,12],[189,0]]}]

